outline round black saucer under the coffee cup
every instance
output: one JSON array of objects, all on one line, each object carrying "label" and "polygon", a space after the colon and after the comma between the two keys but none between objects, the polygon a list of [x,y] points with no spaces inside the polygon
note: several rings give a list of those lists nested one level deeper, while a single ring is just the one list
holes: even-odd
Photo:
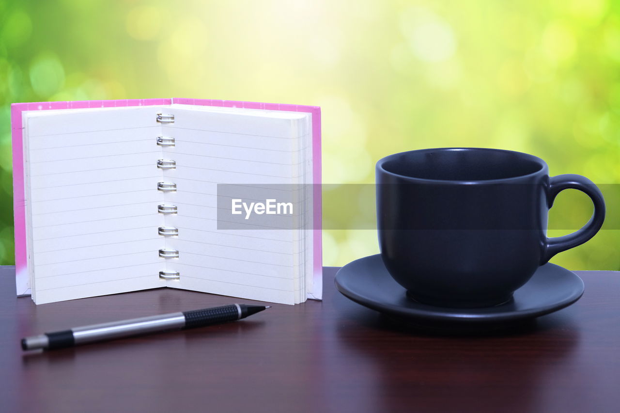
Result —
[{"label": "round black saucer under the coffee cup", "polygon": [[335,284],[356,303],[414,324],[486,325],[523,321],[565,308],[583,294],[583,282],[577,274],[559,265],[545,264],[507,303],[485,308],[435,307],[407,298],[405,289],[387,272],[381,255],[345,265],[336,273]]}]

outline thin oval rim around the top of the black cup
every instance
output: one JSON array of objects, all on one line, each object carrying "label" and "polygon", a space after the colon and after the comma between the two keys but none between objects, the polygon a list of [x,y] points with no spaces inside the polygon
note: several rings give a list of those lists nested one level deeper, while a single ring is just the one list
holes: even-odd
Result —
[{"label": "thin oval rim around the top of the black cup", "polygon": [[[501,152],[501,153],[512,153],[512,154],[518,154],[522,157],[528,158],[530,161],[534,161],[536,163],[539,164],[540,169],[538,169],[538,171],[534,171],[531,172],[529,174],[525,174],[525,175],[517,175],[517,176],[513,176],[513,177],[508,177],[508,178],[497,178],[497,179],[479,179],[479,180],[453,180],[453,179],[429,179],[429,178],[418,178],[418,177],[412,177],[412,176],[408,176],[408,175],[402,175],[402,174],[396,174],[395,172],[391,172],[391,171],[387,171],[387,169],[385,169],[384,164],[386,164],[386,162],[391,161],[392,159],[396,158],[397,156],[402,156],[404,154],[408,154],[408,153],[423,153],[423,152],[433,152],[433,151],[489,151],[489,152]],[[412,151],[404,151],[404,152],[399,152],[399,153],[394,153],[391,155],[387,155],[384,156],[383,158],[379,159],[379,161],[377,161],[376,164],[376,169],[380,170],[381,172],[383,172],[384,174],[387,175],[392,175],[394,177],[399,177],[401,179],[406,179],[406,180],[411,180],[414,182],[427,182],[427,183],[443,183],[443,184],[457,184],[457,185],[484,185],[484,184],[497,184],[498,182],[510,182],[512,180],[520,180],[523,179],[525,177],[531,177],[537,174],[540,174],[541,172],[547,172],[549,167],[547,166],[547,162],[545,162],[543,159],[538,158],[538,156],[534,156],[525,152],[518,152],[518,151],[509,151],[508,149],[495,149],[495,148],[467,148],[467,147],[454,147],[454,148],[427,148],[427,149],[414,149]]]}]

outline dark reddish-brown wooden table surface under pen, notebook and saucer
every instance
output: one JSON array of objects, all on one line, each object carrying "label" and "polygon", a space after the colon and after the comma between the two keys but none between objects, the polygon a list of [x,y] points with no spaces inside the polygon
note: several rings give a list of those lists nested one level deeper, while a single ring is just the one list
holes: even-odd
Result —
[{"label": "dark reddish-brown wooden table surface under pen, notebook and saucer", "polygon": [[0,411],[618,412],[620,273],[511,334],[401,329],[340,295],[243,321],[24,353],[26,335],[229,303],[158,289],[35,306],[0,269]]}]

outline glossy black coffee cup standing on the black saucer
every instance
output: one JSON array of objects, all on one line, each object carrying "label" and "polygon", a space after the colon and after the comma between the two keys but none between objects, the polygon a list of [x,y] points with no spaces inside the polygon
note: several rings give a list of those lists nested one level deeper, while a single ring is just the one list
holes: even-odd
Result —
[{"label": "glossy black coffee cup standing on the black saucer", "polygon": [[[407,295],[446,307],[504,303],[558,252],[603,225],[601,191],[581,175],[549,178],[542,159],[482,148],[397,153],[376,165],[381,257]],[[547,215],[564,189],[594,203],[575,233],[547,238]]]}]

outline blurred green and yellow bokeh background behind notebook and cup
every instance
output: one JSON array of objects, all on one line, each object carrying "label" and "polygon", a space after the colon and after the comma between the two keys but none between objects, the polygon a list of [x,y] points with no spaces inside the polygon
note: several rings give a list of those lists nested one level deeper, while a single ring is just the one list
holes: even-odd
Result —
[{"label": "blurred green and yellow bokeh background behind notebook and cup", "polygon": [[[371,184],[409,149],[536,154],[604,184],[608,220],[552,262],[620,270],[620,2],[0,0],[0,264],[12,264],[10,104],[195,97],[319,105],[323,176]],[[324,190],[325,265],[378,252]],[[591,203],[560,194],[551,235]]]}]

